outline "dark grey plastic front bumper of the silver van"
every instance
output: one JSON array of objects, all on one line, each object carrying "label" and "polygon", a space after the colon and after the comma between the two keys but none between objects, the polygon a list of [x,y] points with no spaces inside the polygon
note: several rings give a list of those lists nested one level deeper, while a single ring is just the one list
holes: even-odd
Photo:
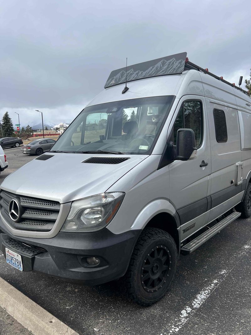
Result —
[{"label": "dark grey plastic front bumper of the silver van", "polygon": [[[51,239],[37,239],[15,237],[1,227],[0,248],[4,257],[6,247],[20,254],[23,271],[40,272],[84,285],[98,285],[126,273],[140,233],[141,230],[130,230],[115,235],[105,228],[94,233],[59,232]],[[90,256],[100,258],[100,264],[88,265],[86,258]]]}]

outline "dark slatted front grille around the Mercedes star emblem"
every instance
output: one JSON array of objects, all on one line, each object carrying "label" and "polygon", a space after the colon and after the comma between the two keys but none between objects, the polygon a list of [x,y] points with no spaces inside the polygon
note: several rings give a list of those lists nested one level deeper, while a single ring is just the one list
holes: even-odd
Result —
[{"label": "dark slatted front grille around the Mercedes star emblem", "polygon": [[[13,221],[9,215],[9,202],[15,198],[20,202],[22,209],[19,222]],[[60,203],[1,191],[0,211],[4,219],[15,229],[50,231],[58,218]]]}]

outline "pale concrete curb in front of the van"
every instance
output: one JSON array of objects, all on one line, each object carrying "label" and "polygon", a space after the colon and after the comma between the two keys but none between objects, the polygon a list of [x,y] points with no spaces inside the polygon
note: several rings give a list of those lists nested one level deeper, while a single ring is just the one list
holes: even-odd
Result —
[{"label": "pale concrete curb in front of the van", "polygon": [[1,277],[0,306],[35,335],[79,335]]}]

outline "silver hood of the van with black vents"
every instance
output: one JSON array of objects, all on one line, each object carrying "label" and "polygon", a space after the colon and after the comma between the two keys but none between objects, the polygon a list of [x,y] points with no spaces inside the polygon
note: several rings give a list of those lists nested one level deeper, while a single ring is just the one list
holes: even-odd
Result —
[{"label": "silver hood of the van with black vents", "polygon": [[[20,167],[5,178],[1,189],[65,203],[105,192],[124,174],[148,157],[78,153],[53,153],[53,155],[47,160],[33,159]],[[85,163],[90,157],[129,159],[119,164]]]}]

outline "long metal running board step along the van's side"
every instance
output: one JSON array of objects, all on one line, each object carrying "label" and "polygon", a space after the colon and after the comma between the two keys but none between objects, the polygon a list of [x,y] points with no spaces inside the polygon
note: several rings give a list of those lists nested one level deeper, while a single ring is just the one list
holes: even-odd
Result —
[{"label": "long metal running board step along the van's side", "polygon": [[181,247],[180,253],[182,255],[187,255],[193,252],[195,249],[200,247],[203,243],[205,243],[207,240],[209,240],[211,237],[216,235],[220,230],[225,228],[227,225],[229,225],[231,222],[233,222],[237,217],[239,217],[241,213],[239,212],[233,212],[229,216],[227,216],[225,219],[214,225],[212,228],[208,229],[207,231],[203,232],[203,234],[196,237],[194,240],[186,244],[185,246]]}]

